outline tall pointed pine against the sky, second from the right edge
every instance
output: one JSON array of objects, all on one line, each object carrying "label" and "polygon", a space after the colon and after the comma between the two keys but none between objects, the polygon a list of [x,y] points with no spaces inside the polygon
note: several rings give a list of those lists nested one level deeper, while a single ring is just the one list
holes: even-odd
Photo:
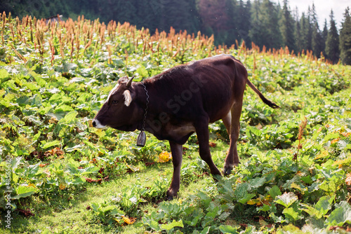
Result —
[{"label": "tall pointed pine against the sky, second from the right edge", "polygon": [[338,30],[336,29],[333,10],[331,10],[330,28],[328,31],[328,36],[326,37],[326,58],[331,60],[331,62],[336,63],[339,60],[339,55],[339,35]]}]

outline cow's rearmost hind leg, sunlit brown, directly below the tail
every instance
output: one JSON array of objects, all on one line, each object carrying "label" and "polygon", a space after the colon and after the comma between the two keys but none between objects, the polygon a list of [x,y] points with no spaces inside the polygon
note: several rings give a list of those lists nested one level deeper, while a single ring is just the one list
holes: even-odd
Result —
[{"label": "cow's rearmost hind leg, sunlit brown, directly below the tail", "polygon": [[223,169],[223,174],[227,175],[232,172],[234,166],[239,165],[239,157],[237,151],[237,139],[239,138],[240,130],[240,116],[242,107],[242,97],[235,101],[232,106],[232,121],[230,127],[230,148],[225,158],[225,165]]}]

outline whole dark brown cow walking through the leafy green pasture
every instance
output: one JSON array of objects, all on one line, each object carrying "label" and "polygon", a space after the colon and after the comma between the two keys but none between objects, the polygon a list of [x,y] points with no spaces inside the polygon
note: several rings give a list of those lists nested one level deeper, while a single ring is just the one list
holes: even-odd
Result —
[{"label": "whole dark brown cow walking through the leafy green pasture", "polygon": [[123,131],[146,130],[157,139],[168,140],[173,157],[173,178],[168,199],[177,195],[183,144],[194,132],[199,154],[213,175],[220,170],[213,163],[208,146],[208,123],[222,120],[230,135],[224,174],[238,165],[237,139],[245,85],[272,108],[248,79],[247,71],[232,55],[216,55],[168,69],[143,82],[120,78],[93,120],[95,128]]}]

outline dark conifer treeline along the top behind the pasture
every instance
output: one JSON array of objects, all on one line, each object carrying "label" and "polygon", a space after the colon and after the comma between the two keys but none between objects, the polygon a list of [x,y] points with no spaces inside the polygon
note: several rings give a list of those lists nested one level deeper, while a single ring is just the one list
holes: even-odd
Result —
[{"label": "dark conifer treeline along the top behind the pasture", "polygon": [[64,18],[100,18],[102,22],[116,20],[130,22],[150,32],[176,31],[214,35],[216,44],[232,45],[244,41],[250,47],[288,47],[294,53],[312,50],[331,62],[341,60],[351,64],[351,17],[345,9],[341,28],[338,30],[331,11],[324,25],[319,25],[312,5],[306,13],[289,8],[289,1],[282,5],[270,0],[3,0],[0,12],[11,12],[19,17],[34,15],[48,18],[62,14]]}]

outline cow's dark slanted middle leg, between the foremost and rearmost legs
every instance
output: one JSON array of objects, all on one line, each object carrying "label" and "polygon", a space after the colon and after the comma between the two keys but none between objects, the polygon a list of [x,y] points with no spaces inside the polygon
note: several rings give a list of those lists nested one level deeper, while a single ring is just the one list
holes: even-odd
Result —
[{"label": "cow's dark slanted middle leg, between the foremost and rearmost legs", "polygon": [[195,125],[195,130],[197,132],[197,139],[199,140],[199,154],[201,159],[207,163],[208,167],[210,167],[211,174],[221,175],[220,170],[218,170],[216,165],[213,163],[210,146],[208,146],[208,119],[207,121],[199,121],[199,123]]}]

